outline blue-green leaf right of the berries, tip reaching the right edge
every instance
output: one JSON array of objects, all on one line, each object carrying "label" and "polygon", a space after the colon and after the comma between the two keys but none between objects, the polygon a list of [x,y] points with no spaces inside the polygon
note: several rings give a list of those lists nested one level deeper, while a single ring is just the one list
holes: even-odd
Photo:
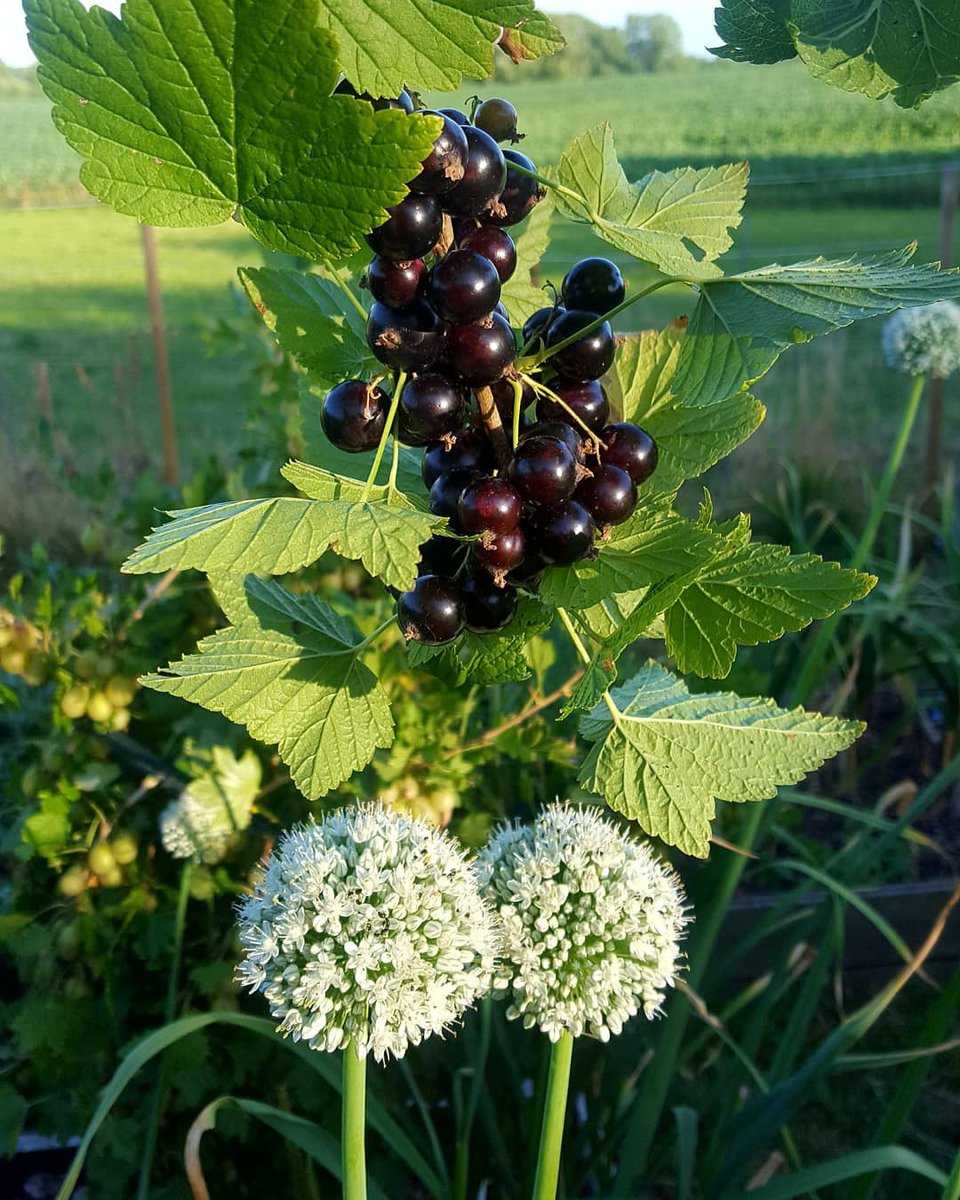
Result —
[{"label": "blue-green leaf right of the berries, tip reaching the right edge", "polygon": [[912,266],[914,251],[774,263],[703,283],[674,390],[686,404],[720,404],[766,374],[788,346],[895,308],[960,298],[960,272]]}]

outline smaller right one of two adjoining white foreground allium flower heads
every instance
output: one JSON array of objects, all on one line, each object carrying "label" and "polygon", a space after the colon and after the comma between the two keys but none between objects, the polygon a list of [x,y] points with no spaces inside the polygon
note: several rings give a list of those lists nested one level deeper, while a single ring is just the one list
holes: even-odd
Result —
[{"label": "smaller right one of two adjoining white foreground allium flower heads", "polygon": [[677,875],[596,808],[551,804],[493,834],[478,865],[500,918],[494,990],[551,1040],[656,1015],[686,924]]}]

